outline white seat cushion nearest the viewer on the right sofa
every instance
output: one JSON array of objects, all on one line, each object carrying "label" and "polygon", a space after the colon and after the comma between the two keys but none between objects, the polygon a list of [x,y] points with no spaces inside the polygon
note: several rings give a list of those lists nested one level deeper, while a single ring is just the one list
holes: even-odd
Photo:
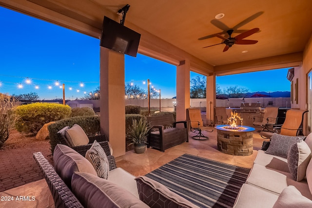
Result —
[{"label": "white seat cushion nearest the viewer on the right sofa", "polygon": [[250,184],[240,188],[233,208],[272,208],[278,194]]}]

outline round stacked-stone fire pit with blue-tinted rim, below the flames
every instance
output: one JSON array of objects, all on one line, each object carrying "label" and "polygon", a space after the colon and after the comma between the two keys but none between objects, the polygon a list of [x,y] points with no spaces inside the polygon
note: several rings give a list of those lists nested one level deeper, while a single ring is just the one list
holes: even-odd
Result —
[{"label": "round stacked-stone fire pit with blue-tinted rim, below the flames", "polygon": [[247,156],[253,154],[254,128],[239,126],[239,129],[227,129],[229,125],[215,126],[218,151],[226,154]]}]

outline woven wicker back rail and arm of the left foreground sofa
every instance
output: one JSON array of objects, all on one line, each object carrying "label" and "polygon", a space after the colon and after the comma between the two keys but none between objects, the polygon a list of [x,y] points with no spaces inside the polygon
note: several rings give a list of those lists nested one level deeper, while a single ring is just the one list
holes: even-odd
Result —
[{"label": "woven wicker back rail and arm of the left foreground sofa", "polygon": [[[104,146],[104,151],[107,155],[110,170],[117,168],[115,157],[110,155],[109,145],[107,141],[101,142],[101,146]],[[85,153],[85,152],[84,152]],[[48,187],[52,193],[54,204],[56,208],[83,208],[79,200],[74,193],[66,186],[64,181],[59,177],[59,174],[55,171],[54,167],[49,161],[44,158],[41,152],[35,152],[34,158],[44,174],[44,178],[48,184]]]}]

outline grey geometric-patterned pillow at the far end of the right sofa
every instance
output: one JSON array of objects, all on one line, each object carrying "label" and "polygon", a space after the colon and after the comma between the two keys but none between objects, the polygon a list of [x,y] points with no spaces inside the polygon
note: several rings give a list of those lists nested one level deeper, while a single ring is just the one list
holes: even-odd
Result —
[{"label": "grey geometric-patterned pillow at the far end of the right sofa", "polygon": [[265,151],[265,153],[287,159],[288,151],[291,148],[292,144],[300,142],[300,138],[304,139],[305,136],[285,136],[273,133],[271,144],[268,150]]}]

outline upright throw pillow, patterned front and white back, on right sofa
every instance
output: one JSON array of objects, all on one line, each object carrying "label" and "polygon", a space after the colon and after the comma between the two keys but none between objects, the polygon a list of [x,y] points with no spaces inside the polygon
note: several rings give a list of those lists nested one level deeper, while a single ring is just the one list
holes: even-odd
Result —
[{"label": "upright throw pillow, patterned front and white back, on right sofa", "polygon": [[294,180],[299,182],[304,178],[310,159],[311,150],[303,140],[291,146],[288,152],[287,164]]}]

